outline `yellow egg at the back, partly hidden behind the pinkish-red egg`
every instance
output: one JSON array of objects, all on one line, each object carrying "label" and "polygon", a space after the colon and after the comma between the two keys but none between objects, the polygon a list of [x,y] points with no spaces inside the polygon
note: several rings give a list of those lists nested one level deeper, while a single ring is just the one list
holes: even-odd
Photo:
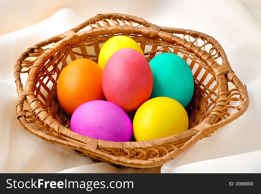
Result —
[{"label": "yellow egg at the back, partly hidden behind the pinkish-red egg", "polygon": [[141,47],[139,44],[131,39],[128,36],[114,36],[107,40],[104,45],[101,48],[99,58],[98,58],[98,64],[99,66],[104,69],[107,61],[112,56],[112,54],[122,48],[131,48],[135,49],[136,51],[140,52],[142,55],[143,52],[141,50]]}]

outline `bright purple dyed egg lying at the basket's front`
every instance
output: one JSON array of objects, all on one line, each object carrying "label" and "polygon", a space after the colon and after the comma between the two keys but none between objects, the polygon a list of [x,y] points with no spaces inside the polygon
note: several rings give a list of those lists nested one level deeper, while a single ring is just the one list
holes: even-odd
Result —
[{"label": "bright purple dyed egg lying at the basket's front", "polygon": [[119,106],[104,100],[80,105],[71,116],[71,130],[87,137],[127,142],[132,137],[128,115]]}]

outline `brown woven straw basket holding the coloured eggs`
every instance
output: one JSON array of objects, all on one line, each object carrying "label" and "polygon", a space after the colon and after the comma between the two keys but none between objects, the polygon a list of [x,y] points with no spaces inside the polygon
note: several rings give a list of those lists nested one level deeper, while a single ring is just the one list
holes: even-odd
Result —
[{"label": "brown woven straw basket holding the coloured eggs", "polygon": [[[189,130],[139,142],[110,142],[70,130],[70,116],[61,108],[56,86],[61,70],[72,60],[98,62],[104,42],[125,35],[140,44],[150,61],[172,52],[187,61],[194,77],[194,95],[186,110]],[[192,30],[159,27],[142,18],[98,14],[75,28],[28,48],[15,65],[17,119],[31,134],[65,147],[95,162],[148,168],[161,166],[184,153],[198,140],[241,116],[248,108],[246,86],[234,74],[220,44]],[[26,83],[21,80],[26,77]],[[28,107],[28,108],[26,108]],[[128,113],[133,119],[135,112]]]}]

